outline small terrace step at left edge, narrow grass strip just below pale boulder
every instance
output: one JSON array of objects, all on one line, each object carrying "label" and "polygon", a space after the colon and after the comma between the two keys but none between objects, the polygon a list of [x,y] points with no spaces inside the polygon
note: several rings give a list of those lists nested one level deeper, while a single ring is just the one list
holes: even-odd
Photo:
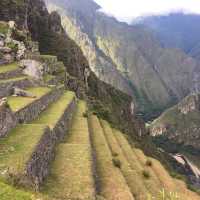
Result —
[{"label": "small terrace step at left edge, narrow grass strip just below pale boulder", "polygon": [[0,80],[0,98],[10,96],[13,87],[25,89],[33,86],[34,83],[27,76]]}]

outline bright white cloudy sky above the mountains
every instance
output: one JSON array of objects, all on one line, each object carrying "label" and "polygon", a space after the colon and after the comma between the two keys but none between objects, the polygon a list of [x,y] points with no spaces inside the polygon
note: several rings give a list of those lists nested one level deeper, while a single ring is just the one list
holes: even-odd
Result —
[{"label": "bright white cloudy sky above the mountains", "polygon": [[141,16],[183,11],[200,14],[200,0],[94,0],[102,11],[120,21],[131,22]]}]

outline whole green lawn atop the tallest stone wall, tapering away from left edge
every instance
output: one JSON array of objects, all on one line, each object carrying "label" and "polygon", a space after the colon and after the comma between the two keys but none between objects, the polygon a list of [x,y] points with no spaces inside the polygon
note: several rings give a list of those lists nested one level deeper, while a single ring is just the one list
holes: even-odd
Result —
[{"label": "whole green lawn atop the tallest stone wall, tapering away from left edge", "polygon": [[0,172],[9,169],[14,174],[22,173],[47,125],[53,128],[73,98],[74,93],[65,92],[57,102],[47,108],[46,115],[42,113],[39,116],[41,121],[38,119],[30,124],[19,125],[8,137],[0,140]]}]

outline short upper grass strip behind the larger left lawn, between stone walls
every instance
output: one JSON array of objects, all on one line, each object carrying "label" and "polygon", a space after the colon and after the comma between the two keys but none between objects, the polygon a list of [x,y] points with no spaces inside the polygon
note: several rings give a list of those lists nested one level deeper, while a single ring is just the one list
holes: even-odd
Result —
[{"label": "short upper grass strip behind the larger left lawn, between stone walls", "polygon": [[51,104],[33,123],[46,124],[53,128],[74,98],[75,94],[73,92],[65,92],[56,103]]}]

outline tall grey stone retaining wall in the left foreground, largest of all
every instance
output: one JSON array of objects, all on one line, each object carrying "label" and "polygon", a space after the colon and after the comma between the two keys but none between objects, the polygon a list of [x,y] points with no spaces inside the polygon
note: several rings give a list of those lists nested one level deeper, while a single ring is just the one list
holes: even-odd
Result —
[{"label": "tall grey stone retaining wall in the left foreground, largest of all", "polygon": [[39,190],[40,185],[48,176],[50,163],[54,159],[56,144],[64,138],[71,126],[71,120],[76,107],[76,99],[71,102],[55,127],[46,128],[40,142],[36,146],[20,178],[20,184]]}]

